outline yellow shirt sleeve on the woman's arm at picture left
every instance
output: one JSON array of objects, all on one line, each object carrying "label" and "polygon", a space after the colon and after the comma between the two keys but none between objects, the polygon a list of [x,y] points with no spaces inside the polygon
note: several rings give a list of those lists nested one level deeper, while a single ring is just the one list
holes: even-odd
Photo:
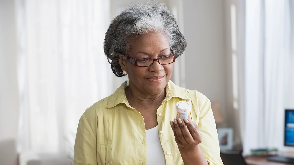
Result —
[{"label": "yellow shirt sleeve on the woman's arm at picture left", "polygon": [[72,165],[97,165],[96,137],[83,114],[76,132]]}]

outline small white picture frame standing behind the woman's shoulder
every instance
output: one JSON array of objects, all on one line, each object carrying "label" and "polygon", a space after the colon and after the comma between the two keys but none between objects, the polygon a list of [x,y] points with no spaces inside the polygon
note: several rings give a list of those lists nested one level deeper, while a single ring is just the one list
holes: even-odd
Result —
[{"label": "small white picture frame standing behind the woman's shoulder", "polygon": [[220,150],[233,149],[233,128],[218,128],[218,142]]}]

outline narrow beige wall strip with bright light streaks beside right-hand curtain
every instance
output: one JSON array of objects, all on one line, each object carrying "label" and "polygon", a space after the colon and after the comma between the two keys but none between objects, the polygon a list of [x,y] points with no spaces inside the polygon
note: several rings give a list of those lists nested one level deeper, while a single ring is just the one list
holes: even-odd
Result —
[{"label": "narrow beige wall strip with bright light streaks beside right-hand curtain", "polygon": [[[236,50],[232,50],[232,33],[231,31],[231,6],[236,9],[235,15],[235,28],[236,28]],[[227,105],[227,126],[234,129],[234,145],[235,147],[242,147],[243,134],[244,134],[244,70],[243,62],[245,53],[245,2],[239,0],[225,0],[225,60],[226,60],[226,105]],[[237,73],[238,73],[238,107],[234,108],[233,97],[233,74],[232,74],[232,53],[237,55]]]}]

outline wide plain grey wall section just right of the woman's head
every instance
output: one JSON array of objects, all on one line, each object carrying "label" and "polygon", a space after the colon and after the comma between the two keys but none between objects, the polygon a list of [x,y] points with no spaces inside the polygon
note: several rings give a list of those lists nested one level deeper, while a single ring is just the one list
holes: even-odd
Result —
[{"label": "wide plain grey wall section just right of the woman's head", "polygon": [[183,1],[186,88],[219,101],[226,116],[223,1]]}]

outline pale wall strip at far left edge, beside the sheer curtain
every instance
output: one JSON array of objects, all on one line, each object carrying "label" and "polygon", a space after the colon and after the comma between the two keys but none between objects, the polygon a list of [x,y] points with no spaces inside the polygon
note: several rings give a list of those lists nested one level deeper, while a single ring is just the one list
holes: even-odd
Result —
[{"label": "pale wall strip at far left edge, beside the sheer curtain", "polygon": [[0,139],[16,138],[19,101],[14,1],[0,1]]}]

